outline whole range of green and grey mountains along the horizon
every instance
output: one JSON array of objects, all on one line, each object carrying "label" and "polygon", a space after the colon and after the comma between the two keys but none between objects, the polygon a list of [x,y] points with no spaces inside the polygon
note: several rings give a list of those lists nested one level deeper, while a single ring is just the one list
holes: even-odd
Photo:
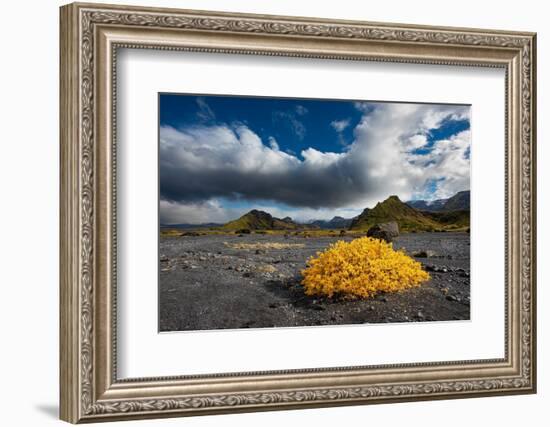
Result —
[{"label": "whole range of green and grey mountains along the horizon", "polygon": [[402,202],[390,196],[372,209],[366,208],[354,218],[335,216],[331,220],[315,220],[307,224],[290,217],[277,218],[268,212],[253,209],[226,224],[161,225],[162,228],[215,228],[225,231],[240,230],[313,230],[349,229],[367,231],[375,224],[395,221],[401,231],[436,231],[466,229],[470,226],[470,191],[461,191],[448,199],[435,201],[414,200]]}]

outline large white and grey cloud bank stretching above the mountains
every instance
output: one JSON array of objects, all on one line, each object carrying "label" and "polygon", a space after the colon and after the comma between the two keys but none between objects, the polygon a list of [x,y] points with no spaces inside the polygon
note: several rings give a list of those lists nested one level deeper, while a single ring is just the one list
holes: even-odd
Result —
[{"label": "large white and grey cloud bank stretching above the mountains", "polygon": [[[430,130],[445,120],[468,118],[469,107],[370,103],[361,108],[347,151],[310,147],[302,158],[281,151],[274,138],[264,143],[245,125],[161,127],[161,215],[178,212],[178,218],[218,222],[212,218],[224,218],[223,208],[213,200],[237,197],[272,200],[307,218],[321,216],[320,208],[360,211],[392,194],[402,200],[419,194],[442,198],[469,188],[470,132],[428,144]],[[415,154],[428,146],[427,154]],[[435,191],[427,193],[433,182]]]}]

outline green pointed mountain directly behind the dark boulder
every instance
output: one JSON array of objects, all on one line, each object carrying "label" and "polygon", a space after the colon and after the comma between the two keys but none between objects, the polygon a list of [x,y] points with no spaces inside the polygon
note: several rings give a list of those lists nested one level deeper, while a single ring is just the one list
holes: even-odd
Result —
[{"label": "green pointed mountain directly behind the dark boulder", "polygon": [[395,221],[400,231],[433,231],[441,228],[436,220],[424,215],[399,200],[390,196],[372,209],[365,209],[353,220],[350,230],[368,230],[375,224]]}]

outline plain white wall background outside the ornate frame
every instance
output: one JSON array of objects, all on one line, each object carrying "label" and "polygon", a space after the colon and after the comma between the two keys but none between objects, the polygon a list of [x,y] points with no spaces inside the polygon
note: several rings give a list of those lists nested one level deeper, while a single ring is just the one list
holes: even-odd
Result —
[{"label": "plain white wall background outside the ornate frame", "polygon": [[[113,3],[122,3],[110,0]],[[130,1],[130,0],[129,0]],[[545,258],[550,126],[550,29],[536,0],[360,2],[357,0],[133,0],[133,4],[235,12],[538,32],[539,393],[439,402],[267,412],[131,425],[408,426],[546,425],[550,404],[550,269]],[[2,7],[0,66],[0,419],[8,426],[59,425],[58,402],[58,6],[57,0]]]}]

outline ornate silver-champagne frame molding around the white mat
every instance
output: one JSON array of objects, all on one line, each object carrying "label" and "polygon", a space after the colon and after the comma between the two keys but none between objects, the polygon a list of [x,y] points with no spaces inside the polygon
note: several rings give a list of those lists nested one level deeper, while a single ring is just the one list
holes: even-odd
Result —
[{"label": "ornate silver-champagne frame molding around the white mat", "polygon": [[[536,390],[536,35],[100,4],[61,8],[60,384],[72,423]],[[498,360],[117,379],[118,48],[506,71],[506,322]]]}]

